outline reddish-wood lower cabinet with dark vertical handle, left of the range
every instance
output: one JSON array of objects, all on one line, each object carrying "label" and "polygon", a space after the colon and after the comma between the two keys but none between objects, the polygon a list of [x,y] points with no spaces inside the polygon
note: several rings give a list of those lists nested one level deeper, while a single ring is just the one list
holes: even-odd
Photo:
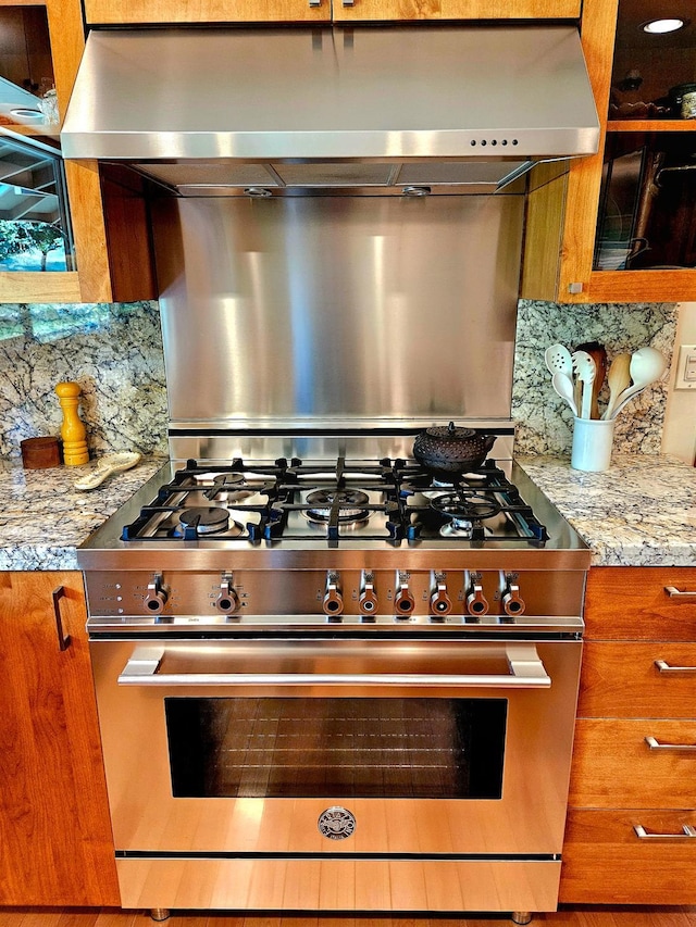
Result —
[{"label": "reddish-wood lower cabinet with dark vertical handle, left of the range", "polygon": [[0,904],[120,904],[86,618],[82,574],[0,574]]}]

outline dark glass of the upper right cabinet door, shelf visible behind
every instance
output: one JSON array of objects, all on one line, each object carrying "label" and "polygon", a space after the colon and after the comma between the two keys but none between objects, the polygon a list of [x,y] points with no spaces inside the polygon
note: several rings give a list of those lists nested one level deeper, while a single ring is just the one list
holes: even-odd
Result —
[{"label": "dark glass of the upper right cabinet door, shelf visible behind", "polygon": [[696,16],[620,0],[595,271],[696,266]]}]

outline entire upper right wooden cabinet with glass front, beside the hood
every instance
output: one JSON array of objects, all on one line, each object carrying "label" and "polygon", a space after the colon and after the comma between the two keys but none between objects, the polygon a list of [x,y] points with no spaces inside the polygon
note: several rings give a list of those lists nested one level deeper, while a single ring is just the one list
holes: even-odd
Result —
[{"label": "entire upper right wooden cabinet with glass front, beside the hood", "polygon": [[[678,0],[669,15],[680,9],[688,9],[686,0]],[[681,117],[669,96],[675,85],[694,79],[696,24],[679,38],[646,36],[642,25],[659,11],[657,0],[583,4],[582,41],[601,125],[600,150],[564,173],[544,165],[533,176],[523,298],[696,299],[696,171],[691,171],[696,120]]]}]

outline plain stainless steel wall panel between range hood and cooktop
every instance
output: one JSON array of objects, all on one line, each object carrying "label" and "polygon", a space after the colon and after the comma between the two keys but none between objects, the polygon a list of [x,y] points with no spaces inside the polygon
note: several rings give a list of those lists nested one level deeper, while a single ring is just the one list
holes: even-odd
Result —
[{"label": "plain stainless steel wall panel between range hood and cooktop", "polygon": [[172,426],[509,422],[523,208],[156,201]]}]

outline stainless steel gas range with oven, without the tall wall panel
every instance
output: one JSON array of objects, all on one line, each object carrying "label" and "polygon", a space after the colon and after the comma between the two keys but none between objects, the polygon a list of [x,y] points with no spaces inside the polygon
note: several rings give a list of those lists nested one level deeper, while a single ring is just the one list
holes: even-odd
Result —
[{"label": "stainless steel gas range with oven, without the tall wall panel", "polygon": [[509,461],[178,462],[80,560],[124,906],[556,906],[588,554]]}]

